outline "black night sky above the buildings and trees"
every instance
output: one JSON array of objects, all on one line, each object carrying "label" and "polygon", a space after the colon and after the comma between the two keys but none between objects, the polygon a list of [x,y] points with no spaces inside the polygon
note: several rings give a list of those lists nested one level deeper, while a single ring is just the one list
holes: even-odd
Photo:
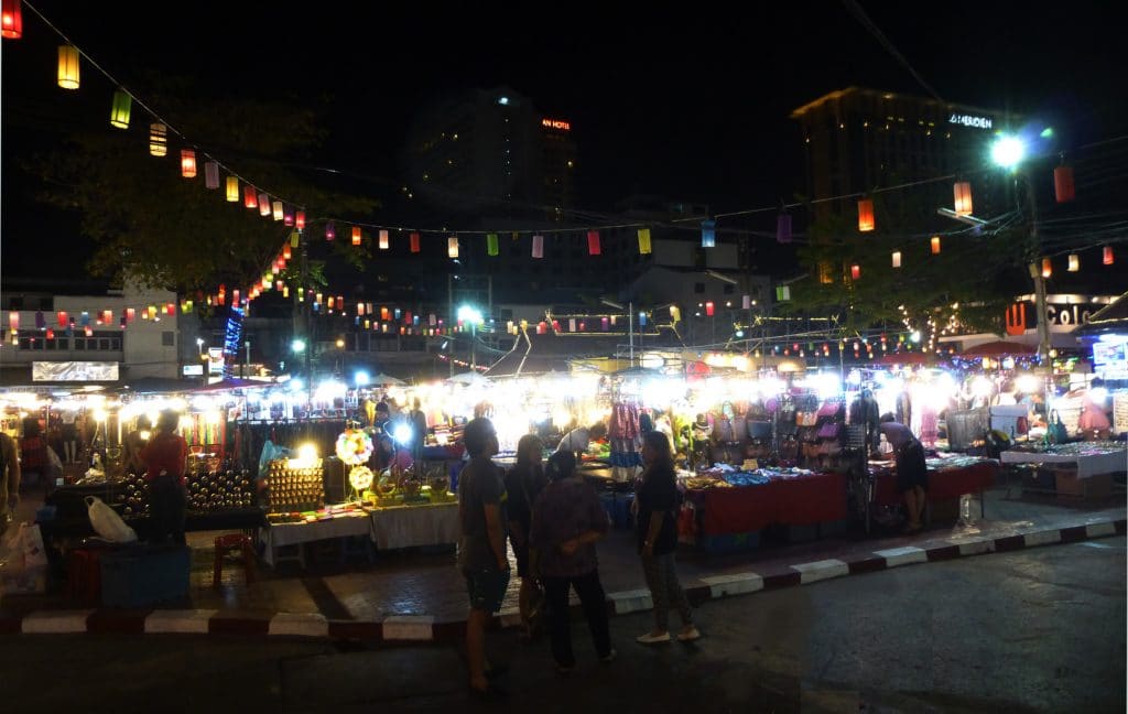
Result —
[{"label": "black night sky above the buildings and trees", "polygon": [[[633,192],[713,212],[778,204],[801,188],[792,109],[849,85],[928,94],[844,2],[511,12],[356,0],[33,5],[142,98],[149,70],[193,77],[213,97],[280,92],[315,105],[329,130],[321,162],[380,197],[399,185],[396,158],[414,107],[452,89],[509,86],[569,120],[581,208],[592,211]],[[948,102],[1045,116],[1065,127],[1066,144],[1128,133],[1122,24],[1111,3],[861,7]],[[25,200],[14,159],[77,122],[114,131],[113,87],[95,69],[83,64],[79,92],[97,112],[60,104],[70,100],[54,82],[61,42],[28,7],[24,38],[3,41],[6,275],[42,245],[45,226],[68,226]],[[389,202],[371,220],[395,223],[394,210]]]}]

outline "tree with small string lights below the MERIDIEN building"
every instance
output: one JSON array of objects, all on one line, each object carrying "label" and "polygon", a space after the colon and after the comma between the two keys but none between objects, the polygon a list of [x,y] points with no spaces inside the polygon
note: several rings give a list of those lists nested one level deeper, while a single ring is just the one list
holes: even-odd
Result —
[{"label": "tree with small string lights below the MERIDIEN building", "polygon": [[799,250],[808,277],[791,287],[792,299],[778,311],[837,317],[847,334],[920,330],[925,344],[957,325],[1001,332],[1005,307],[1024,284],[1022,226],[1006,217],[978,229],[941,223],[927,193],[892,192],[873,201],[872,232],[860,232],[854,214],[829,213],[811,224]]}]

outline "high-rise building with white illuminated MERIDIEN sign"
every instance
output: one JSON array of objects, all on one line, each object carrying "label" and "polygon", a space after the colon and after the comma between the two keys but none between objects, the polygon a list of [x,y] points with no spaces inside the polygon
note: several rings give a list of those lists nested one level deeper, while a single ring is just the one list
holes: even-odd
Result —
[{"label": "high-rise building with white illuminated MERIDIEN sign", "polygon": [[[813,204],[813,218],[848,215],[856,196],[879,187],[973,173],[988,146],[1017,116],[937,99],[849,87],[810,102],[791,117],[805,151],[807,196],[852,196]],[[922,185],[937,206],[952,203],[951,183]]]}]

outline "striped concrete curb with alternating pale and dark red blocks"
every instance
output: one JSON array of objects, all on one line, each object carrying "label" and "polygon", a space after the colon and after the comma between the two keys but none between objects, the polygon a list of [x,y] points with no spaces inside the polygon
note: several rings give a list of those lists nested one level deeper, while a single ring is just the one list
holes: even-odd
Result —
[{"label": "striped concrete curb with alternating pale and dark red blocks", "polygon": [[[845,559],[830,558],[792,565],[775,565],[760,571],[711,575],[686,588],[695,605],[811,583],[834,578],[872,573],[891,567],[949,561],[958,557],[1006,553],[1041,546],[1079,543],[1122,536],[1128,520],[1101,521],[1084,526],[1031,530],[998,538],[957,536],[927,547],[904,546],[861,552]],[[653,608],[649,590],[627,590],[607,596],[611,615],[626,615]],[[519,624],[517,611],[503,610],[493,618],[496,628]],[[50,634],[210,634],[265,635],[277,637],[364,640],[376,642],[447,642],[465,632],[464,622],[437,622],[425,615],[393,615],[384,620],[329,620],[311,612],[259,612],[239,610],[35,610],[21,616],[0,612],[0,635]]]}]

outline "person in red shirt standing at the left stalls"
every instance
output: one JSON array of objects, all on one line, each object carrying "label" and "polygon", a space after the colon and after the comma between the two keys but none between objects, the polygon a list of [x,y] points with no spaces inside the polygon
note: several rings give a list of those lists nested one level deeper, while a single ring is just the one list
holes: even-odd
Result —
[{"label": "person in red shirt standing at the left stalls", "polygon": [[187,545],[184,538],[184,517],[188,497],[184,488],[187,470],[188,444],[176,433],[180,415],[165,409],[157,417],[157,431],[141,449],[144,479],[149,484],[150,540],[162,543],[171,538],[177,545]]}]

